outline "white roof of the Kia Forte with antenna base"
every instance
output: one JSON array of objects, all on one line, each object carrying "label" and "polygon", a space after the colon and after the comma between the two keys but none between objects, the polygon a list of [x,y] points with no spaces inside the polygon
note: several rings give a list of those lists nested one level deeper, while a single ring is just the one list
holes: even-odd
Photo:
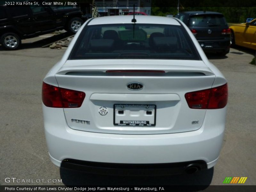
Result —
[{"label": "white roof of the Kia Forte with antenna base", "polygon": [[[88,25],[102,25],[102,24],[117,24],[117,23],[133,23],[133,15],[117,15],[96,17],[91,20]],[[149,24],[165,24],[165,25],[180,25],[174,18],[160,17],[160,16],[145,16],[135,15],[136,23],[149,23]]]}]

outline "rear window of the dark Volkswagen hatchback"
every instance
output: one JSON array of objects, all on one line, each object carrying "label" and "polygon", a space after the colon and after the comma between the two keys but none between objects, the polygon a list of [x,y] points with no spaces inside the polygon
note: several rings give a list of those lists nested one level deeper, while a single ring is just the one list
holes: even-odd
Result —
[{"label": "rear window of the dark Volkswagen hatchback", "polygon": [[209,26],[225,26],[227,22],[223,15],[195,15],[189,18],[189,26],[193,27],[209,27]]}]

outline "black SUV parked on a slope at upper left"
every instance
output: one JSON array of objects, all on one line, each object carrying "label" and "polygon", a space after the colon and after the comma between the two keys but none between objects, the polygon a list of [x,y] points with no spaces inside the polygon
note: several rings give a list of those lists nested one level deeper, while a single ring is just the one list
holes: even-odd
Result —
[{"label": "black SUV parked on a slope at upper left", "polygon": [[84,22],[82,15],[74,7],[0,6],[0,44],[6,49],[15,50],[20,47],[21,39],[62,29],[76,33]]}]

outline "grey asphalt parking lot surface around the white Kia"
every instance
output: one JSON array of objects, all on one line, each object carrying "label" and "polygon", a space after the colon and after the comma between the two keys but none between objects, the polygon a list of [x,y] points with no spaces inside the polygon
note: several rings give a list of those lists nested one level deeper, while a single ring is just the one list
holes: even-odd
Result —
[{"label": "grey asphalt parking lot surface around the white Kia", "polygon": [[[256,185],[256,66],[249,64],[252,50],[231,49],[226,57],[209,55],[210,61],[227,78],[229,88],[226,133],[214,169],[194,175],[161,177],[87,175],[51,163],[44,136],[41,86],[46,73],[64,52],[34,45],[17,51],[0,48],[0,185],[207,186],[222,185],[226,177],[248,177],[243,185]],[[20,179],[20,182],[5,178]],[[30,183],[21,182],[22,179],[30,179]]]}]

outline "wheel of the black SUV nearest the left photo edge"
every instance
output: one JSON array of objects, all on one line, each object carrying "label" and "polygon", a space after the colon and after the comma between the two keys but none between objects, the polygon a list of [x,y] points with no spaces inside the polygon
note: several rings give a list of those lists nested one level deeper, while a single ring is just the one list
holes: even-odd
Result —
[{"label": "wheel of the black SUV nearest the left photo edge", "polygon": [[7,50],[16,50],[20,48],[21,39],[16,33],[4,33],[0,37],[2,46]]}]

